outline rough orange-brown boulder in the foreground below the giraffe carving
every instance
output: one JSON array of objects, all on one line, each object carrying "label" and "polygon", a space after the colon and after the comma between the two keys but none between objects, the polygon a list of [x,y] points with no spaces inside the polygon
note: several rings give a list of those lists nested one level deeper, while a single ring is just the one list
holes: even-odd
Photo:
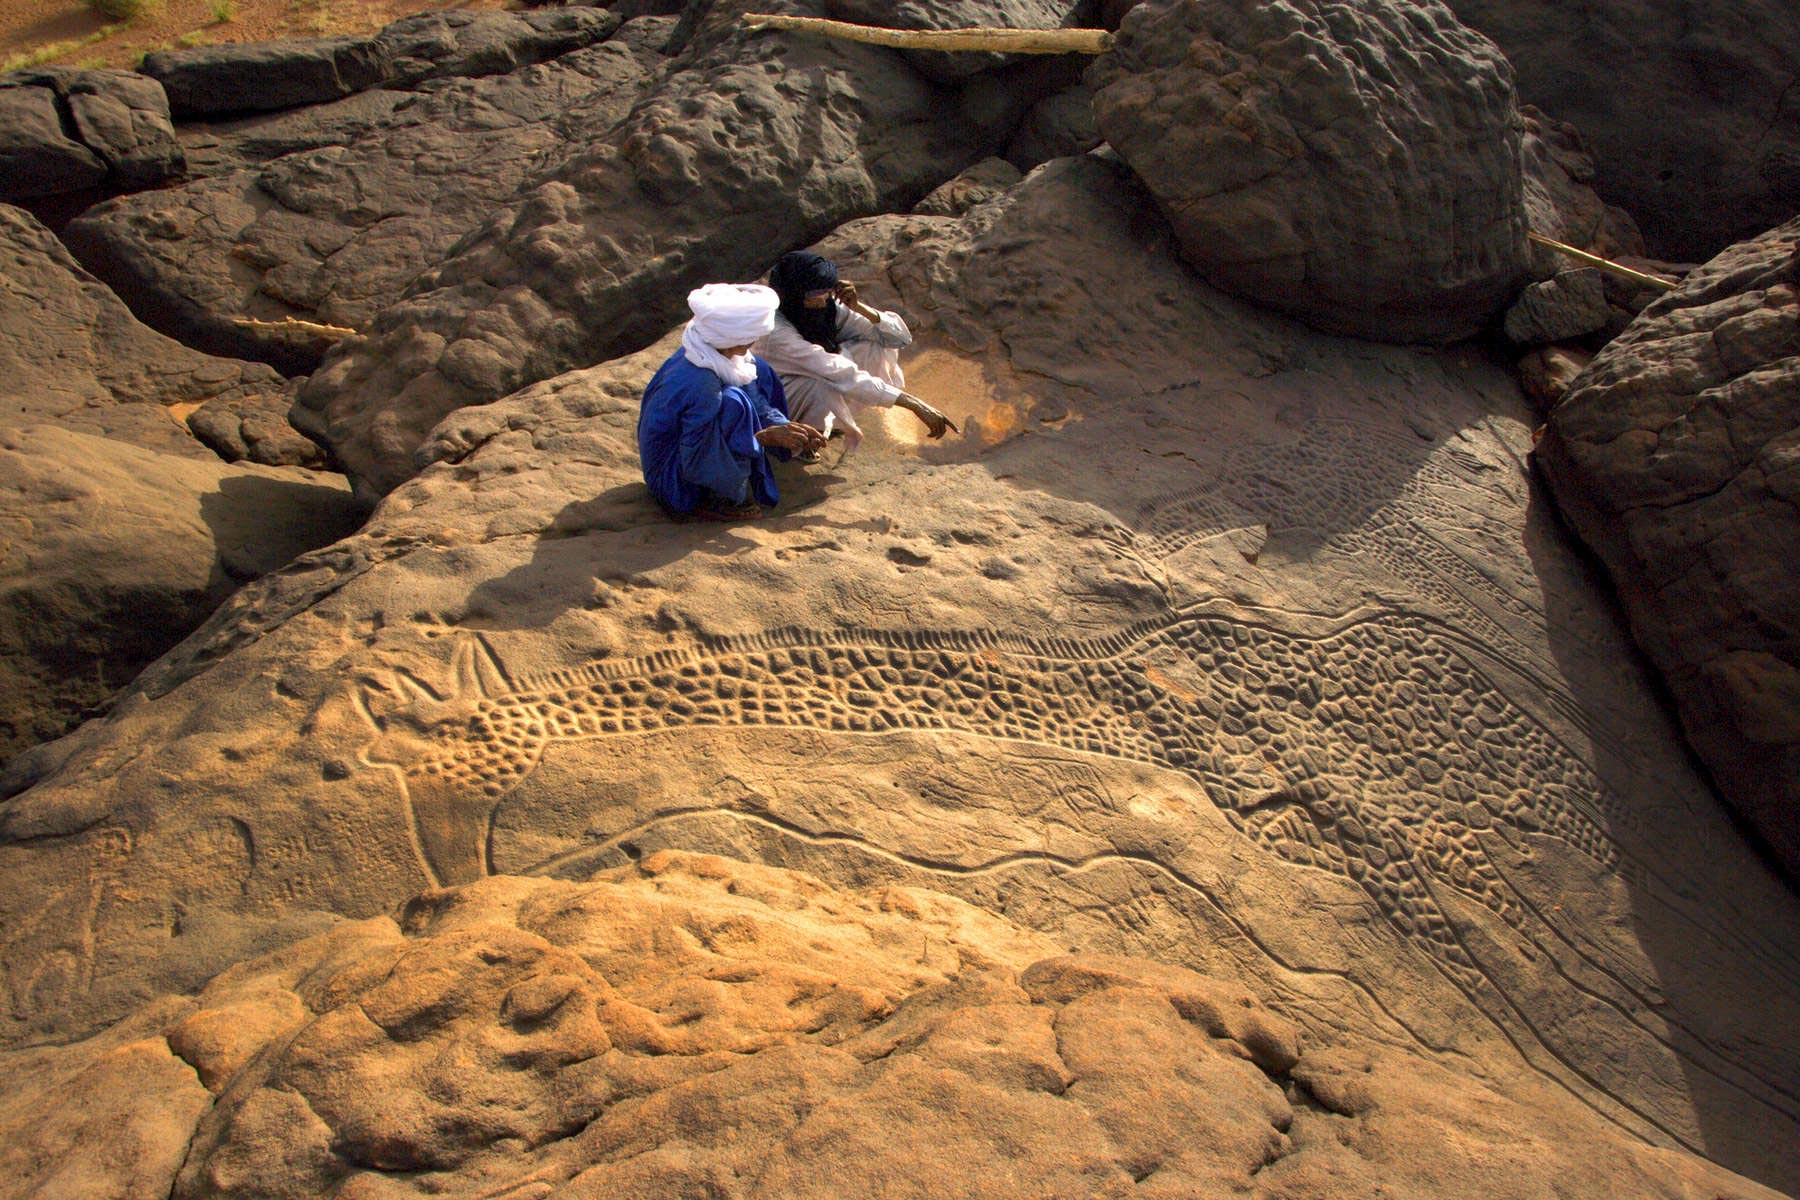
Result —
[{"label": "rough orange-brown boulder in the foreground below the giraffe carving", "polygon": [[432,892],[0,1063],[22,1195],[1778,1200],[1228,981],[684,853]]}]

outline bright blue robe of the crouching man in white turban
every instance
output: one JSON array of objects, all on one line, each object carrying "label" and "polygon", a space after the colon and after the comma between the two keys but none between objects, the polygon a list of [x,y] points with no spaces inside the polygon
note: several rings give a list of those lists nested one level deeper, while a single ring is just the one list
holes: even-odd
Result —
[{"label": "bright blue robe of the crouching man in white turban", "polygon": [[787,421],[781,380],[761,358],[754,383],[725,387],[675,351],[650,378],[637,412],[644,482],[673,513],[693,513],[707,502],[774,504],[776,477],[756,432]]}]

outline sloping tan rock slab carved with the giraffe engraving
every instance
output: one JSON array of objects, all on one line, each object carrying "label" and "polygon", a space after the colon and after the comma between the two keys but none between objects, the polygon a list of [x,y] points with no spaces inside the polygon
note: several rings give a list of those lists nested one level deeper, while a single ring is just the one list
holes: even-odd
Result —
[{"label": "sloping tan rock slab carved with the giraffe engraving", "polygon": [[9,1042],[432,883],[693,849],[947,892],[1800,1184],[1800,900],[1534,489],[1508,374],[1206,288],[1093,158],[824,250],[963,437],[869,414],[770,518],[680,525],[634,441],[673,338],[457,412],[362,531],[9,774]]}]

